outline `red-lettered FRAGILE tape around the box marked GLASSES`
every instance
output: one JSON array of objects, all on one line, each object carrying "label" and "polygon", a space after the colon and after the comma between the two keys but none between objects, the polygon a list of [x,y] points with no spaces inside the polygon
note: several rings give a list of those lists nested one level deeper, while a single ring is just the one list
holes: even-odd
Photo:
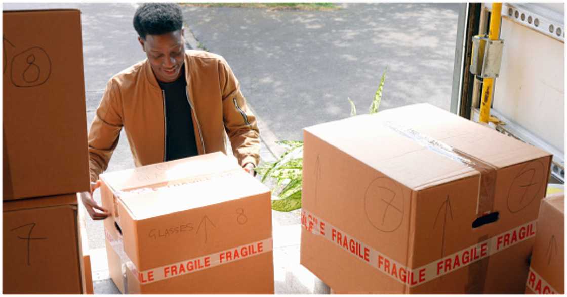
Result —
[{"label": "red-lettered FRAGILE tape around the box marked GLASSES", "polygon": [[197,272],[200,270],[212,268],[222,264],[246,259],[252,256],[260,255],[261,253],[272,251],[272,238],[260,240],[244,244],[243,246],[226,249],[225,251],[211,253],[209,255],[196,257],[189,260],[176,262],[153,269],[138,272],[138,269],[124,252],[124,244],[122,240],[113,239],[110,234],[105,230],[107,238],[111,243],[112,248],[119,254],[122,263],[125,263],[128,269],[136,276],[141,285],[148,283],[163,281],[164,279],[183,276],[184,274]]}]

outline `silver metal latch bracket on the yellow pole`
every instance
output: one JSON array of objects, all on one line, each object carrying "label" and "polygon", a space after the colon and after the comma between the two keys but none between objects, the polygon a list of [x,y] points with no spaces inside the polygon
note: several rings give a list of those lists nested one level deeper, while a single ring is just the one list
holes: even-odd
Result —
[{"label": "silver metal latch bracket on the yellow pole", "polygon": [[481,78],[497,78],[500,74],[503,40],[489,40],[486,35],[472,37],[472,57],[469,71]]}]

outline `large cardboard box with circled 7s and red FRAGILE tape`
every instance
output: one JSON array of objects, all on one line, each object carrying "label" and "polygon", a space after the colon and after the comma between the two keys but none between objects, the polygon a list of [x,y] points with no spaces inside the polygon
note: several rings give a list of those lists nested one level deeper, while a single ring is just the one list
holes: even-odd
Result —
[{"label": "large cardboard box with circled 7s and red FRAGILE tape", "polygon": [[333,291],[525,290],[549,153],[429,104],[306,128],[303,149],[301,264]]}]

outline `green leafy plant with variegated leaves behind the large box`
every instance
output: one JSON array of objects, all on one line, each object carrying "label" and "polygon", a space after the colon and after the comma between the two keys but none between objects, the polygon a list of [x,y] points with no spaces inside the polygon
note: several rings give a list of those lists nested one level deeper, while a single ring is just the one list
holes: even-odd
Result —
[{"label": "green leafy plant with variegated leaves behind the large box", "polygon": [[[374,94],[369,108],[369,114],[378,112],[382,100],[382,90],[386,80],[386,69],[380,79],[378,90]],[[350,98],[350,116],[357,115],[356,105]],[[272,193],[277,193],[279,199],[272,200],[272,209],[280,212],[290,212],[301,208],[301,193],[303,180],[303,141],[284,140],[278,142],[285,148],[284,153],[274,162],[264,162],[256,167],[256,173],[262,177],[263,183],[272,183]]]}]

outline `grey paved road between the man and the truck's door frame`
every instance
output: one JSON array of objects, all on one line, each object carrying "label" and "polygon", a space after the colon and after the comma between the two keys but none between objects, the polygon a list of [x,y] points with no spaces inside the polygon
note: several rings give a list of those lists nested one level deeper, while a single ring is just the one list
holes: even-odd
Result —
[{"label": "grey paved road between the man and the truck's door frame", "polygon": [[345,3],[336,11],[184,9],[206,49],[223,55],[278,139],[367,113],[388,67],[382,109],[449,109],[458,3]]}]

